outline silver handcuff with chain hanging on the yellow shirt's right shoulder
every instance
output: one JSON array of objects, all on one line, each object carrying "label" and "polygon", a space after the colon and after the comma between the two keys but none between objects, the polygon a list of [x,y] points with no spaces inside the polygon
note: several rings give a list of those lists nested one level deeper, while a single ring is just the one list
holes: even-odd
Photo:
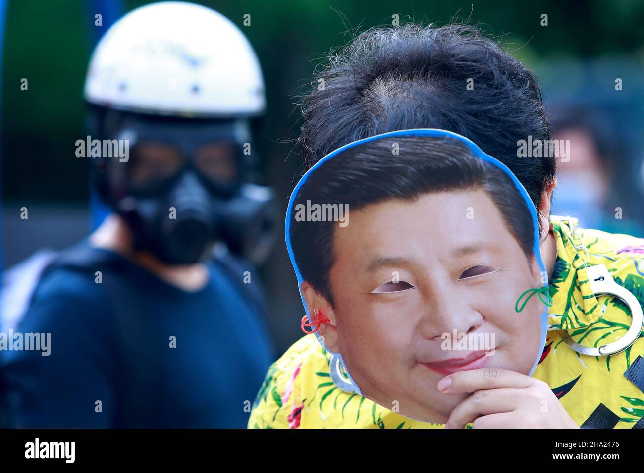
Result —
[{"label": "silver handcuff with chain hanging on the yellow shirt's right shoulder", "polygon": [[609,357],[611,355],[615,355],[616,353],[620,353],[620,351],[623,351],[634,344],[635,340],[638,339],[642,328],[644,327],[644,315],[642,315],[642,309],[636,297],[632,295],[629,290],[623,288],[622,286],[620,286],[620,284],[617,284],[612,279],[612,275],[609,273],[608,268],[606,268],[605,264],[588,266],[588,262],[590,260],[588,248],[586,248],[586,245],[583,243],[582,235],[575,232],[574,223],[571,217],[568,216],[567,220],[568,226],[571,230],[571,241],[573,242],[573,246],[576,250],[583,251],[583,255],[585,256],[585,261],[583,261],[582,266],[580,266],[580,268],[578,269],[586,269],[588,281],[591,284],[591,290],[594,293],[595,297],[598,297],[600,295],[612,295],[613,297],[618,297],[618,299],[621,299],[621,301],[623,301],[630,310],[632,323],[630,324],[630,328],[626,332],[626,334],[619,340],[601,345],[597,348],[578,344],[570,337],[567,331],[563,331],[562,339],[564,339],[564,341],[570,348],[578,353],[582,353],[582,355],[589,355],[593,357]]}]

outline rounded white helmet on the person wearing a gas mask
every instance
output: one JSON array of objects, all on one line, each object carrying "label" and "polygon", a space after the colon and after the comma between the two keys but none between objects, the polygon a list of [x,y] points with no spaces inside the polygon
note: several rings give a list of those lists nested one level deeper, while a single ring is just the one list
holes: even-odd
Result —
[{"label": "rounded white helmet on the person wearing a gas mask", "polygon": [[253,116],[265,107],[260,63],[243,33],[184,2],[142,6],[113,24],[91,57],[84,95],[156,115]]}]

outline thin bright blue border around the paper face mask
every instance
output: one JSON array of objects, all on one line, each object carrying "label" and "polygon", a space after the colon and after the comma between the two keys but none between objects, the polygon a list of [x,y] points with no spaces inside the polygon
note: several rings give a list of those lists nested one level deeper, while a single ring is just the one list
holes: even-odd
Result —
[{"label": "thin bright blue border around the paper face mask", "polygon": [[[289,251],[289,257],[290,257],[290,263],[293,265],[293,269],[295,270],[295,274],[298,278],[298,289],[299,289],[299,295],[302,299],[302,304],[304,305],[304,310],[307,313],[308,321],[312,322],[311,315],[308,313],[308,308],[307,308],[307,301],[304,299],[304,295],[302,293],[302,275],[299,271],[298,264],[295,261],[295,257],[293,255],[293,248],[290,243],[290,235],[289,235],[289,228],[290,228],[290,216],[292,213],[292,207],[294,205],[294,202],[296,200],[296,196],[298,195],[299,189],[302,187],[302,185],[307,181],[308,177],[311,175],[312,172],[315,172],[318,167],[323,165],[323,163],[327,162],[328,160],[334,158],[337,156],[337,154],[342,153],[343,151],[346,151],[346,149],[352,148],[357,145],[365,144],[370,141],[374,140],[379,140],[380,138],[392,138],[395,136],[435,136],[437,138],[453,138],[455,140],[459,140],[460,142],[466,144],[471,151],[473,152],[474,156],[477,158],[480,158],[486,162],[492,163],[493,165],[497,166],[498,168],[502,169],[506,174],[510,176],[512,181],[515,183],[516,189],[518,189],[519,193],[521,196],[524,198],[524,200],[527,203],[527,208],[530,210],[530,215],[533,221],[533,227],[534,227],[534,235],[535,235],[535,245],[534,245],[534,252],[535,252],[535,258],[536,262],[539,264],[539,267],[541,268],[542,274],[545,274],[545,284],[544,286],[549,286],[549,283],[547,281],[547,272],[545,271],[545,266],[544,262],[541,259],[541,250],[540,250],[540,241],[539,241],[539,225],[538,225],[538,219],[536,217],[536,209],[535,205],[533,204],[533,201],[530,199],[530,197],[527,194],[526,189],[523,187],[523,185],[516,179],[516,176],[509,170],[507,169],[507,166],[497,160],[496,158],[493,158],[489,154],[486,154],[480,149],[474,142],[471,140],[468,140],[468,138],[465,138],[464,136],[461,136],[460,134],[453,133],[451,131],[446,131],[446,130],[441,130],[441,129],[435,129],[435,128],[415,128],[415,129],[408,129],[408,130],[399,130],[399,131],[391,131],[389,133],[383,133],[383,134],[376,134],[374,136],[369,136],[368,138],[363,138],[362,140],[357,140],[352,143],[346,144],[344,146],[339,147],[338,149],[332,151],[331,153],[328,153],[327,156],[324,156],[321,160],[319,160],[311,169],[309,169],[299,180],[298,184],[295,186],[295,189],[293,189],[292,194],[290,194],[290,199],[289,199],[289,207],[287,208],[286,211],[286,224],[285,224],[285,239],[286,239],[286,247],[287,250]],[[547,333],[547,323],[548,323],[548,308],[545,306],[544,312],[541,315],[541,346],[545,345],[545,335]],[[319,344],[324,347],[322,344],[322,340],[318,333],[316,332],[316,337],[317,341]],[[329,353],[332,353],[329,349],[327,349]],[[352,382],[354,385],[355,392],[357,394],[362,395],[360,392],[360,389],[357,387],[355,384],[354,380],[351,377],[351,374],[348,372],[346,369],[346,364],[344,360],[342,359],[342,355],[339,353],[332,353],[333,355],[336,355],[340,361],[342,362],[343,367],[345,367],[346,374],[349,376],[349,380]],[[536,366],[539,364],[539,360],[541,358],[542,353],[539,352],[535,364],[533,367],[530,369],[530,375],[535,372]]]}]

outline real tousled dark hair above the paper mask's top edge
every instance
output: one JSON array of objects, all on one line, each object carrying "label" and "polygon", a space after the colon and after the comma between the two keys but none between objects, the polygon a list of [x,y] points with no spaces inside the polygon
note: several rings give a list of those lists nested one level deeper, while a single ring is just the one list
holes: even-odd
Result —
[{"label": "real tousled dark hair above the paper mask's top edge", "polygon": [[301,106],[305,169],[368,136],[439,128],[466,136],[509,167],[537,208],[556,174],[554,156],[517,156],[518,140],[551,138],[535,75],[471,26],[363,32],[330,55]]}]

